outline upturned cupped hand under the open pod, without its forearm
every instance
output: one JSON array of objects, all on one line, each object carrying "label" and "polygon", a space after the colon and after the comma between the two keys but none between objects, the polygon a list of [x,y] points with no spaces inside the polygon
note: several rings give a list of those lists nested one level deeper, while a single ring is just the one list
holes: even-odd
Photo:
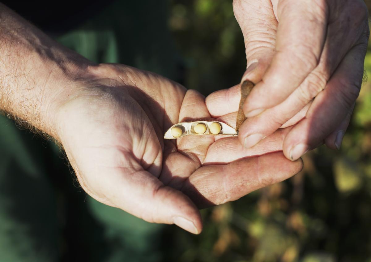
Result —
[{"label": "upturned cupped hand under the open pod, without its forearm", "polygon": [[62,94],[55,123],[79,183],[96,200],[149,222],[200,233],[198,208],[236,200],[302,168],[278,152],[289,129],[252,149],[237,137],[164,140],[171,125],[210,118],[209,111],[234,126],[236,110],[224,101],[208,108],[198,92],[154,73],[90,66],[72,89]]}]

